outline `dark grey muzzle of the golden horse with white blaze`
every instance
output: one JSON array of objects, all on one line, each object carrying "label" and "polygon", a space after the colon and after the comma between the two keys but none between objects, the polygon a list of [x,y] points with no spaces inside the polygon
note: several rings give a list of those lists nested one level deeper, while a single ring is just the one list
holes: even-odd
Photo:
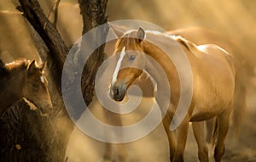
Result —
[{"label": "dark grey muzzle of the golden horse with white blaze", "polygon": [[115,101],[122,101],[125,98],[126,85],[124,81],[116,81],[110,88],[110,96]]}]

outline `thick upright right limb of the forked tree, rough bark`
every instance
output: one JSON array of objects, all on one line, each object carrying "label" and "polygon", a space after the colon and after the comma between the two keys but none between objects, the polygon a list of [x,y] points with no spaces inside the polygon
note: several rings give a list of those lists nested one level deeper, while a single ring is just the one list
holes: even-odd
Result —
[{"label": "thick upright right limb of the forked tree, rough bark", "polygon": [[[95,28],[98,25],[107,23],[108,16],[106,15],[106,8],[108,0],[79,0],[80,14],[83,17],[84,27],[83,35]],[[103,33],[95,33],[91,42],[96,42],[98,39],[105,40],[108,34],[108,28],[105,29]],[[83,46],[83,41],[82,41]],[[94,53],[91,54],[90,58],[84,66],[84,71],[82,75],[82,92],[84,94],[84,101],[88,105],[92,98],[94,92],[94,80],[96,76],[96,71],[98,67],[102,64],[104,59],[104,45],[96,49]]]}]

